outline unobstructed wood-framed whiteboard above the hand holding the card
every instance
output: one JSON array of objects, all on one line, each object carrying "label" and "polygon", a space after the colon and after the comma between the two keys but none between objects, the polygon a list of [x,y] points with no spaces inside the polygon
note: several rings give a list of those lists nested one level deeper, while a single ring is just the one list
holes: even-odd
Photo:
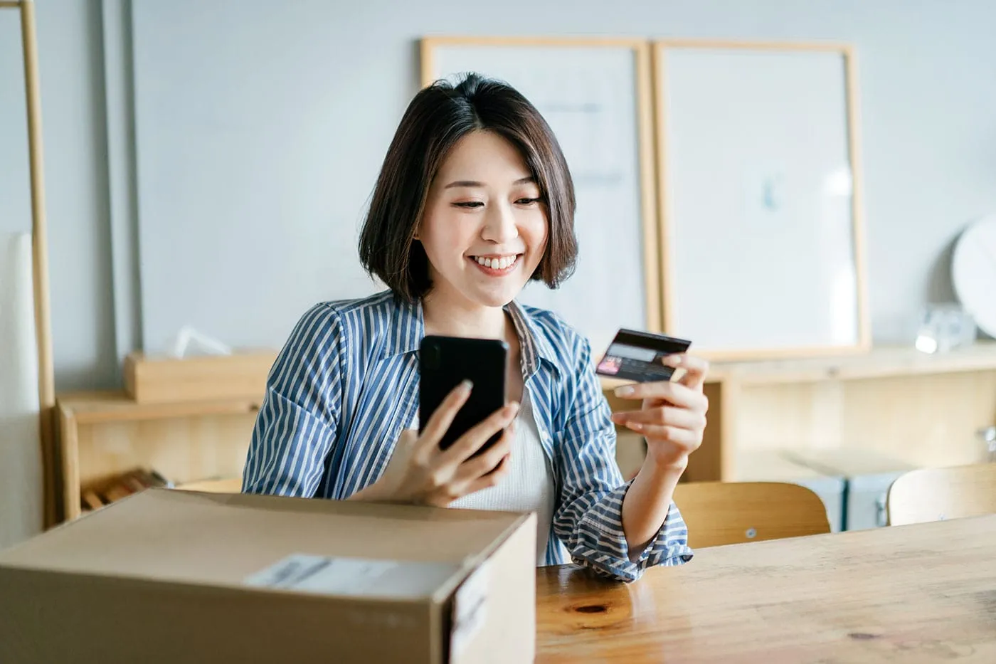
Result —
[{"label": "unobstructed wood-framed whiteboard above the hand holding the card", "polygon": [[854,54],[653,45],[664,329],[718,360],[871,345]]}]

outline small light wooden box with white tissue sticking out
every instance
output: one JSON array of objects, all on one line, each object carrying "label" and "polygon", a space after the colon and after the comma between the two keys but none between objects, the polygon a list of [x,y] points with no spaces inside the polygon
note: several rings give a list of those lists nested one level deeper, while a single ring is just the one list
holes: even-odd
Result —
[{"label": "small light wooden box with white tissue sticking out", "polygon": [[277,352],[261,350],[232,355],[124,358],[124,391],[139,404],[246,399],[259,403]]}]

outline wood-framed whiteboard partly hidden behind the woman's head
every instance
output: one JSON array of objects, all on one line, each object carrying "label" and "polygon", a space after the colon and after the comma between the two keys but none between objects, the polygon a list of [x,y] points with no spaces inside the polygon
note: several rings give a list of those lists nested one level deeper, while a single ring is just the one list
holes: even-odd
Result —
[{"label": "wood-framed whiteboard partly hidden behind the woman's head", "polygon": [[551,309],[601,354],[620,327],[660,329],[649,44],[644,40],[432,37],[421,83],[468,72],[521,92],[557,136],[574,178],[574,275],[531,282],[519,300]]}]

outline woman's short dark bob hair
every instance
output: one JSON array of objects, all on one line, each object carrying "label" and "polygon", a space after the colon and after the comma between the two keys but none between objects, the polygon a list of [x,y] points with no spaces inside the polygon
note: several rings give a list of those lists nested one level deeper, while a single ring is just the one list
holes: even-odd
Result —
[{"label": "woman's short dark bob hair", "polygon": [[546,251],[530,276],[556,288],[574,271],[574,182],[564,153],[540,112],[511,86],[468,74],[436,81],[415,95],[387,149],[360,233],[360,261],[400,299],[413,302],[432,284],[415,232],[429,186],[456,143],[471,132],[503,137],[522,154],[549,220]]}]

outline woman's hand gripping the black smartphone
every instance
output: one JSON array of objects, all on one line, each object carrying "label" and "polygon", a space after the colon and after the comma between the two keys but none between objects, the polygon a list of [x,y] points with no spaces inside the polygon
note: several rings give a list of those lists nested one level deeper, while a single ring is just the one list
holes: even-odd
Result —
[{"label": "woman's hand gripping the black smartphone", "polygon": [[[508,474],[519,405],[511,403],[470,429],[446,450],[439,441],[470,396],[464,382],[450,392],[422,429],[405,431],[383,475],[354,499],[388,500],[445,506],[457,498],[493,487]],[[471,457],[496,433],[502,437],[481,455]]]}]

